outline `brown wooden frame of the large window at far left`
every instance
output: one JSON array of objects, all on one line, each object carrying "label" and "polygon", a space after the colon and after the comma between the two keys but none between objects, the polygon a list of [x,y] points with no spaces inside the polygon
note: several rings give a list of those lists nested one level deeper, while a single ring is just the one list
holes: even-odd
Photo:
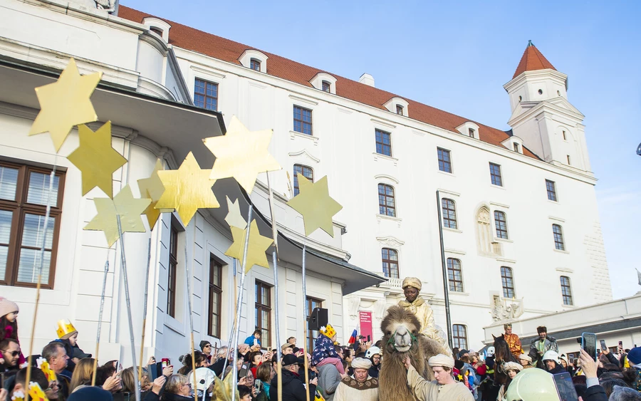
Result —
[{"label": "brown wooden frame of the large window at far left", "polygon": [[[28,203],[28,190],[29,180],[31,179],[31,172],[51,177],[51,169],[44,167],[36,167],[27,163],[6,162],[0,160],[0,167],[18,170],[18,177],[16,178],[16,192],[14,200],[0,199],[0,209],[6,212],[11,212],[11,229],[9,231],[9,244],[7,246],[6,268],[4,277],[0,277],[0,285],[23,287],[23,288],[36,288],[38,283],[26,283],[18,281],[18,269],[20,266],[20,256],[22,249],[31,249],[31,246],[23,246],[22,239],[24,234],[24,219],[26,214],[33,214],[36,216],[46,215],[46,205]],[[41,288],[53,289],[55,276],[56,276],[56,259],[58,259],[58,240],[60,238],[60,224],[63,212],[63,194],[65,190],[66,171],[56,170],[56,177],[58,177],[58,197],[56,199],[56,206],[51,205],[49,211],[49,224],[53,224],[53,236],[51,238],[51,256],[49,259],[49,275],[46,283],[41,283]],[[53,222],[51,222],[53,219]],[[44,224],[44,222],[43,222]],[[39,228],[39,225],[38,225]],[[44,227],[46,233],[47,227]],[[46,234],[45,234],[46,235]],[[40,251],[41,247],[36,246]],[[45,249],[46,251],[49,249]],[[44,270],[44,266],[43,266]]]}]

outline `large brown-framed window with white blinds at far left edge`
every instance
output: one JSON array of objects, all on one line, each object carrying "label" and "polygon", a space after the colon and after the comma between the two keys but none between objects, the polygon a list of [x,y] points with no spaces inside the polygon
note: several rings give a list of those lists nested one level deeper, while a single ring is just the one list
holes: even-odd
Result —
[{"label": "large brown-framed window with white blinds at far left edge", "polygon": [[[65,173],[0,162],[0,284],[35,287],[45,238],[41,286],[53,288]],[[46,205],[51,211],[44,226]]]}]

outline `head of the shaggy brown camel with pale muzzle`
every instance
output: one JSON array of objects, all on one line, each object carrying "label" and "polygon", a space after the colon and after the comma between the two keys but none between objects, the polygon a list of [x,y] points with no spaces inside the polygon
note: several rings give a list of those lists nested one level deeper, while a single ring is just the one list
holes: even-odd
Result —
[{"label": "head of the shaggy brown camel with pale muzzle", "polygon": [[417,346],[421,326],[414,313],[405,308],[392,306],[387,309],[380,328],[385,334],[383,342],[387,352],[406,353],[412,346]]}]

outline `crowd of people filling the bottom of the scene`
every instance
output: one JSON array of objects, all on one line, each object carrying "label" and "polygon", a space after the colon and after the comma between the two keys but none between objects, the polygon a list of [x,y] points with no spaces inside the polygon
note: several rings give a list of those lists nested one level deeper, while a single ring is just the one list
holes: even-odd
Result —
[{"label": "crowd of people filling the bottom of the scene", "polygon": [[[433,324],[431,308],[420,302],[419,285],[415,278],[405,279],[406,299],[401,306],[412,313],[428,314],[421,320]],[[60,321],[58,338],[40,355],[31,356],[33,367],[27,383],[27,362],[17,335],[18,313],[16,303],[0,297],[0,401],[19,401],[33,388],[48,400],[135,400],[138,371],[123,368],[116,360],[98,363],[78,347],[78,330],[70,321]],[[454,348],[452,355],[432,355],[427,360],[432,381],[424,372],[417,372],[407,356],[403,360],[407,372],[404,386],[419,401],[571,400],[563,382],[553,379],[553,375],[563,374],[568,378],[566,387],[575,391],[580,401],[641,400],[641,347],[619,348],[617,353],[604,349],[596,360],[581,350],[579,358],[568,360],[559,355],[556,340],[545,327],[538,328],[538,338],[532,340],[528,353],[523,353],[511,325],[504,328],[504,350],[498,350],[497,345],[497,349],[486,347],[479,352]],[[418,335],[440,334],[432,327]],[[140,400],[228,400],[217,396],[216,387],[223,388],[224,382],[237,391],[236,400],[241,401],[379,400],[384,363],[381,349],[385,346],[382,340],[372,343],[363,336],[340,345],[330,324],[320,328],[313,350],[299,348],[296,338],[288,338],[280,346],[280,360],[275,348],[263,346],[260,330],[234,350],[214,348],[204,340],[198,350],[189,350],[179,358],[181,366],[175,372],[169,360],[158,363],[151,357],[142,370]],[[231,382],[234,368],[237,381]]]}]

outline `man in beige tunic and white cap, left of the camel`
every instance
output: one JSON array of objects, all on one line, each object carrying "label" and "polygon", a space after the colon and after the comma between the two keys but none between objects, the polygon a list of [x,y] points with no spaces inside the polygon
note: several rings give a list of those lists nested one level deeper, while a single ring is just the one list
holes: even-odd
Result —
[{"label": "man in beige tunic and white cap, left of the camel", "polygon": [[378,380],[368,375],[371,367],[371,360],[355,358],[352,361],[354,375],[341,380],[334,401],[378,401]]}]

